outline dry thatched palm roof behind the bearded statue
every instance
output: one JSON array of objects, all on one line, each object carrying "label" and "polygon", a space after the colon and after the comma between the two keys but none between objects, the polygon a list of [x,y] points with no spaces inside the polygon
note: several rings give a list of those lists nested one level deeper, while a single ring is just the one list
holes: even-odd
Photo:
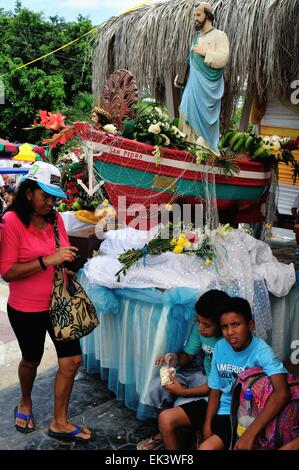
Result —
[{"label": "dry thatched palm roof behind the bearded statue", "polygon": [[[116,69],[128,69],[139,89],[158,100],[164,75],[172,78],[194,38],[193,7],[198,0],[169,0],[111,18],[94,43],[93,91],[99,95]],[[299,0],[211,0],[217,28],[230,40],[226,90],[237,96],[248,81],[260,98],[290,100],[299,79]]]}]

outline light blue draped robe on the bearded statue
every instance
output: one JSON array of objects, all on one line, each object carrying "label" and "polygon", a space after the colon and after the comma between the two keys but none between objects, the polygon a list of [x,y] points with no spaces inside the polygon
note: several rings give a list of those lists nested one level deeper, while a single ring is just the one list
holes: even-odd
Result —
[{"label": "light blue draped robe on the bearded statue", "polygon": [[[192,47],[197,42],[195,38]],[[212,151],[218,150],[221,98],[224,94],[223,68],[213,69],[204,57],[192,50],[189,77],[182,96],[180,112],[194,132],[202,136]]]}]

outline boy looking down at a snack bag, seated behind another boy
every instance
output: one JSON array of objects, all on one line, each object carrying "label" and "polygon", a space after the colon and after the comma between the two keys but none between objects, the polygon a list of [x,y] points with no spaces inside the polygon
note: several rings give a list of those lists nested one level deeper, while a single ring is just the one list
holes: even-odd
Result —
[{"label": "boy looking down at a snack bag, seated behind another boy", "polygon": [[[156,360],[160,366],[165,362],[169,365],[177,362],[179,369],[170,385],[162,387],[160,377],[155,377],[150,383],[147,404],[157,410],[160,433],[139,442],[138,450],[157,450],[163,446],[163,442],[166,449],[175,450],[179,445],[176,435],[178,428],[202,426],[207,407],[206,398],[203,397],[209,393],[207,376],[211,370],[215,345],[221,337],[218,318],[221,306],[229,298],[225,292],[216,289],[203,294],[195,305],[197,321],[183,352],[178,357],[168,353]],[[193,361],[199,353],[204,356],[203,370],[200,364],[194,364]],[[194,407],[200,410],[201,421],[194,421]]]}]

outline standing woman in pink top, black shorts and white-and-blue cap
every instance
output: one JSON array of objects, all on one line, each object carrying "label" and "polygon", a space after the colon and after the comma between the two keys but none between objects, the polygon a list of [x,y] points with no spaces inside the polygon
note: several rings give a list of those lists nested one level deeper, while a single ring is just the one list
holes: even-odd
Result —
[{"label": "standing woman in pink top, black shorts and white-and-blue cap", "polygon": [[[82,358],[80,342],[56,341],[49,315],[55,266],[72,262],[77,251],[70,246],[63,220],[54,210],[56,198],[65,197],[59,183],[60,171],[54,165],[34,163],[1,224],[0,273],[9,284],[7,313],[22,352],[19,365],[22,396],[15,409],[15,426],[25,433],[35,429],[31,392],[48,331],[59,364],[54,417],[48,434],[57,439],[87,442],[91,432],[85,426],[68,422],[69,400]],[[55,244],[55,219],[59,249]]]}]

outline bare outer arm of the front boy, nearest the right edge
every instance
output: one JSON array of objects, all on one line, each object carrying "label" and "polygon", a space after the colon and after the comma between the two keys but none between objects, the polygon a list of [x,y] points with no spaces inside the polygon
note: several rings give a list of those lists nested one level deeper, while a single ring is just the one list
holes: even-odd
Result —
[{"label": "bare outer arm of the front boy, nearest the right edge", "polygon": [[273,392],[268,398],[266,405],[261,413],[246,429],[244,434],[237,440],[235,450],[250,450],[254,445],[254,441],[260,432],[272,421],[275,416],[282,410],[290,399],[290,392],[287,386],[286,374],[275,374],[270,377]]}]

